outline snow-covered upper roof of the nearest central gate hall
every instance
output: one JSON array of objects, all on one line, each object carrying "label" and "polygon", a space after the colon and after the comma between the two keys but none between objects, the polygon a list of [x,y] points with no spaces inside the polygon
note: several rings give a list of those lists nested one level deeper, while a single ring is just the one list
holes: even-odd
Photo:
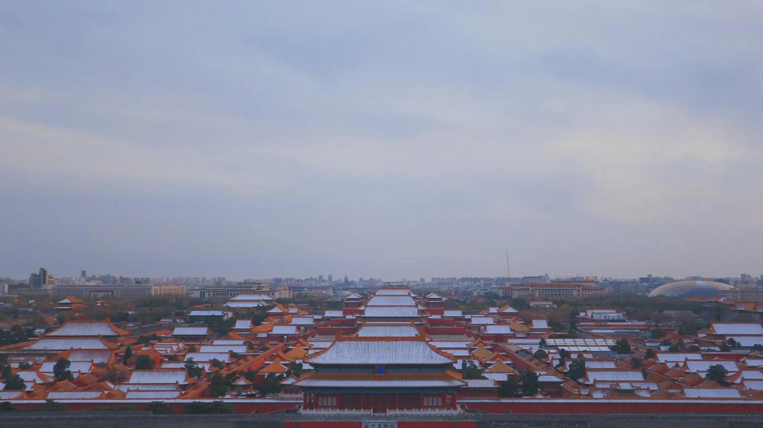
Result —
[{"label": "snow-covered upper roof of the nearest central gate hall", "polygon": [[420,339],[406,337],[346,337],[327,350],[307,356],[307,363],[318,364],[450,364],[453,359],[432,349]]}]

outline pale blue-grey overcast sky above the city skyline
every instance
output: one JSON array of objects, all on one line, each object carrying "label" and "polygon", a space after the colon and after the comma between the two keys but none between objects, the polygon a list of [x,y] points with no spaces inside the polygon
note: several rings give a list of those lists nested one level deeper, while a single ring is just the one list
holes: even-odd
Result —
[{"label": "pale blue-grey overcast sky above the city skyline", "polygon": [[763,2],[0,3],[0,276],[763,273]]}]

